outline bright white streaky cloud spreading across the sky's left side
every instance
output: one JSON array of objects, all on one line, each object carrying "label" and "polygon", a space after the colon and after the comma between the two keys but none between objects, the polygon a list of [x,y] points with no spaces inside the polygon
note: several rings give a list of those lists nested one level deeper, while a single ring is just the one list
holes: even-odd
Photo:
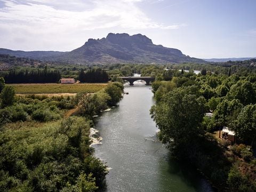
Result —
[{"label": "bright white streaky cloud spreading across the sky's left side", "polygon": [[35,43],[37,38],[36,41],[49,46],[62,38],[72,43],[86,31],[109,29],[110,32],[113,28],[124,31],[168,30],[182,26],[154,22],[137,6],[143,1],[74,0],[70,3],[68,0],[2,0],[0,42],[12,44],[21,39],[28,39],[28,42],[34,39]]}]

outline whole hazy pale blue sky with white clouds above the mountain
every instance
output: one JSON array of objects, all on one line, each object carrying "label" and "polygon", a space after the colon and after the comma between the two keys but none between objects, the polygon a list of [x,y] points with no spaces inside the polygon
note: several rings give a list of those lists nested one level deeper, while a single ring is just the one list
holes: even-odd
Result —
[{"label": "whole hazy pale blue sky with white clouds above the mountain", "polygon": [[197,58],[256,57],[256,0],[0,0],[0,47],[71,51],[143,34]]}]

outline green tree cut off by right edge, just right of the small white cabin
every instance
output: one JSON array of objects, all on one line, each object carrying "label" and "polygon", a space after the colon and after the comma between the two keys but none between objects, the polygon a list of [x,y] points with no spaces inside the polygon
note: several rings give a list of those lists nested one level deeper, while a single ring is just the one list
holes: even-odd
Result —
[{"label": "green tree cut off by right edge, just right of the small white cabin", "polygon": [[237,137],[244,142],[253,142],[256,139],[256,104],[247,105],[239,113],[235,121],[234,130]]}]

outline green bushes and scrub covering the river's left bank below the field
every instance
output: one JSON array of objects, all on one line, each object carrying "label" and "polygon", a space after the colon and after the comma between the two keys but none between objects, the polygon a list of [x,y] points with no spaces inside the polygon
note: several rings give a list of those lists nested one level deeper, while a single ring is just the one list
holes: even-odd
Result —
[{"label": "green bushes and scrub covering the river's left bank below the field", "polygon": [[76,97],[18,97],[0,80],[0,191],[102,189],[107,166],[93,156],[90,127],[93,115],[122,98],[123,85]]}]

